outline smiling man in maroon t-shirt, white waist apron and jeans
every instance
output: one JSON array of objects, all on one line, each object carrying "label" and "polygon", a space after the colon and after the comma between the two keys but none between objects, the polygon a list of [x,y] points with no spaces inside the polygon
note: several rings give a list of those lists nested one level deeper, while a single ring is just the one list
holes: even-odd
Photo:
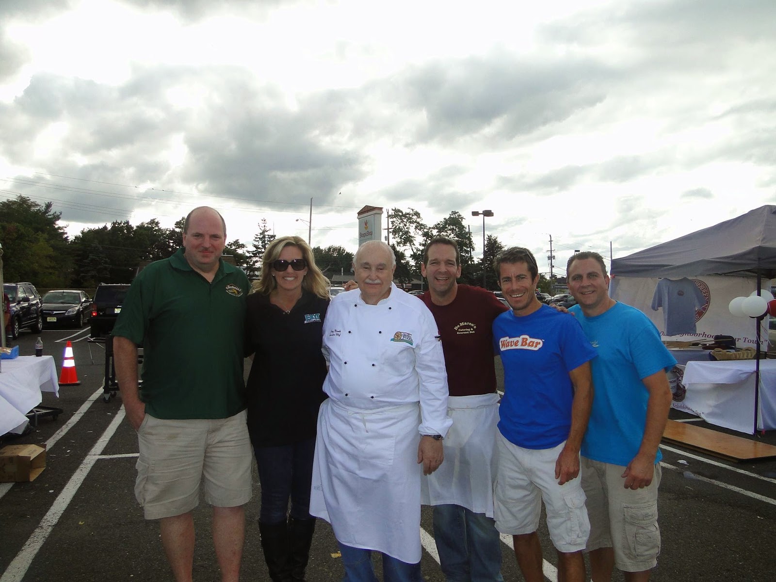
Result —
[{"label": "smiling man in maroon t-shirt, white waist apron and jeans", "polygon": [[501,541],[493,519],[492,456],[498,394],[491,331],[508,309],[494,293],[459,285],[458,245],[432,239],[421,272],[421,299],[434,314],[450,391],[445,463],[424,480],[423,503],[434,506],[434,537],[447,580],[501,582]]}]

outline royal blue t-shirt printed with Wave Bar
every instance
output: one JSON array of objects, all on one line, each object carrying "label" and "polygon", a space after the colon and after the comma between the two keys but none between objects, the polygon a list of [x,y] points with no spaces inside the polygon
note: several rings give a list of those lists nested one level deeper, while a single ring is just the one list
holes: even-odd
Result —
[{"label": "royal blue t-shirt printed with Wave Bar", "polygon": [[505,311],[493,322],[504,364],[498,429],[524,449],[552,449],[571,428],[569,372],[595,357],[575,317],[542,305],[530,315]]}]

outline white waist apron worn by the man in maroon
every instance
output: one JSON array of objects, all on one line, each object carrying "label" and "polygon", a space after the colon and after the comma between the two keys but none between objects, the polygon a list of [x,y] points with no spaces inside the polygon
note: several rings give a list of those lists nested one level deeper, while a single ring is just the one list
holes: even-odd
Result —
[{"label": "white waist apron worn by the man in maroon", "polygon": [[461,505],[493,517],[498,394],[451,396],[445,461],[421,480],[424,505]]}]

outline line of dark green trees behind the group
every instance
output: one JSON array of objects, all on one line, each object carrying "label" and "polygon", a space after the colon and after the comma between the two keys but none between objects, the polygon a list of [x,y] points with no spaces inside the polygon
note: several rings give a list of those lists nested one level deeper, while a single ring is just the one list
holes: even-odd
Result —
[{"label": "line of dark green trees behind the group", "polygon": [[[100,282],[131,282],[144,262],[167,258],[182,244],[183,221],[172,228],[161,227],[156,219],[137,225],[129,220],[114,220],[102,227],[85,228],[72,239],[60,224],[61,213],[53,203],[36,203],[26,196],[0,202],[0,242],[2,242],[5,281],[29,281],[43,288],[93,288]],[[448,237],[459,246],[461,279],[470,285],[483,285],[483,260],[473,257],[472,234],[462,215],[452,211],[448,217],[427,225],[412,208],[392,208],[387,215],[389,244],[397,258],[394,279],[408,283],[421,277],[423,249],[434,237]],[[237,266],[252,279],[258,277],[262,256],[275,239],[266,219],[257,224],[248,244],[227,240],[224,255],[232,255]],[[504,244],[488,235],[484,265],[487,289],[498,289],[490,265]],[[339,245],[313,248],[316,264],[324,275],[351,273],[354,252]],[[546,279],[542,281],[549,286]],[[540,284],[542,286],[542,284]]]}]

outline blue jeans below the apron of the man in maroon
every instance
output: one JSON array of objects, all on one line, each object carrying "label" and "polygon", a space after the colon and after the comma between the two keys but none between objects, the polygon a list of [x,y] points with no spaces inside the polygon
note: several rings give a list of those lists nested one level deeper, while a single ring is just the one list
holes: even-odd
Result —
[{"label": "blue jeans below the apron of the man in maroon", "polygon": [[493,518],[460,505],[435,505],[434,539],[448,582],[503,582]]}]

